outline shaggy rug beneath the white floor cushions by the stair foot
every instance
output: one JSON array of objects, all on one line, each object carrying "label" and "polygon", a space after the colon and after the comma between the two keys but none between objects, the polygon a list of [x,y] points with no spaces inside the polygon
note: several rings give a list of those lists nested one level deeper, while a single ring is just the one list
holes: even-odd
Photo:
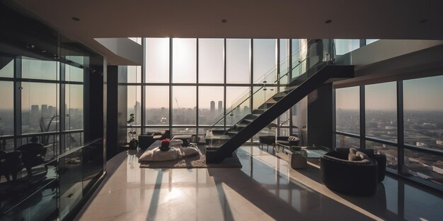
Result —
[{"label": "shaggy rug beneath the white floor cushions by the stair foot", "polygon": [[163,161],[163,162],[145,162],[140,161],[140,168],[241,168],[241,162],[238,160],[237,155],[234,153],[233,157],[226,158],[219,164],[207,164],[206,157],[199,150],[199,155],[186,157],[183,159]]}]

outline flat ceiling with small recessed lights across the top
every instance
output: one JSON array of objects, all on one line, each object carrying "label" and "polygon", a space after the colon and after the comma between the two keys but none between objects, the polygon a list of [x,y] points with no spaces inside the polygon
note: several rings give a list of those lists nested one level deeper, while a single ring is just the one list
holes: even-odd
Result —
[{"label": "flat ceiling with small recessed lights across the top", "polygon": [[[93,38],[443,40],[443,1],[437,0],[16,0],[16,3],[64,35],[104,54],[111,64],[127,61]],[[222,23],[223,19],[227,22]],[[326,20],[332,22],[327,24]]]}]

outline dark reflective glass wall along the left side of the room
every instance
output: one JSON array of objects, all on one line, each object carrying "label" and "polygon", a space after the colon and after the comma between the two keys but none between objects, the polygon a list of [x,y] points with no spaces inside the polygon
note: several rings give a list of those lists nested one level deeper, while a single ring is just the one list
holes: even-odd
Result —
[{"label": "dark reflective glass wall along the left side of the room", "polygon": [[14,21],[0,27],[7,33],[0,36],[0,220],[67,220],[103,174],[103,113],[86,111],[103,102],[103,57],[4,4],[0,12]]}]

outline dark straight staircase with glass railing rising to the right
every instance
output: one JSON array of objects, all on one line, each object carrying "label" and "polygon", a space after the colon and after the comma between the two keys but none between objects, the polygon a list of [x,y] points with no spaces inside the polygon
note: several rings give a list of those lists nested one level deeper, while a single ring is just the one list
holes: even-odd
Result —
[{"label": "dark straight staircase with glass railing rising to the right", "polygon": [[[309,59],[310,57],[307,56],[304,61],[307,62]],[[226,157],[231,157],[232,153],[243,145],[243,143],[246,143],[246,141],[256,133],[328,79],[351,78],[354,76],[354,66],[337,66],[330,63],[330,61],[317,61],[316,64],[311,65],[306,72],[292,79],[284,91],[272,95],[272,97],[263,102],[258,108],[246,114],[245,117],[240,119],[236,124],[233,124],[226,131],[215,128],[209,130],[207,132],[207,142],[209,143],[209,147],[206,149],[207,163],[219,163]],[[297,66],[298,65],[294,66],[294,68],[297,68]],[[280,78],[278,80],[280,80]],[[263,90],[263,88],[259,90]],[[252,95],[246,99],[243,97],[242,102],[251,98],[259,90],[253,92]],[[234,109],[239,108],[242,102],[238,102]],[[234,109],[231,109],[231,111],[224,116],[225,121],[226,118],[233,115]],[[217,121],[217,123],[219,123],[219,121]]]}]

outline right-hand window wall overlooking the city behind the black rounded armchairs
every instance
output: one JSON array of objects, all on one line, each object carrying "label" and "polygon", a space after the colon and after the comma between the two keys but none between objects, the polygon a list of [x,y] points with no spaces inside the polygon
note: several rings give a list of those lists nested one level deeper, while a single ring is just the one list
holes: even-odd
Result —
[{"label": "right-hand window wall overlooking the city behind the black rounded armchairs", "polygon": [[378,150],[389,171],[442,189],[442,83],[433,76],[336,88],[335,146]]}]

